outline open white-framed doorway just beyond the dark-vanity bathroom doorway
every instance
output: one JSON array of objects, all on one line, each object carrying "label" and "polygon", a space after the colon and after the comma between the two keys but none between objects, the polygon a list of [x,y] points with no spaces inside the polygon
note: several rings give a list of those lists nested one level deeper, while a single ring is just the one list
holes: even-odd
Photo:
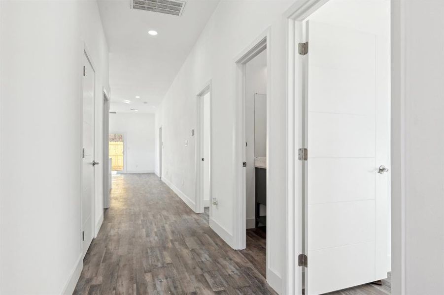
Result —
[{"label": "open white-framed doorway just beyond the dark-vanity bathroom doorway", "polygon": [[[197,95],[196,172],[198,194],[196,212],[211,216],[211,83]],[[193,131],[192,131],[193,132]]]}]

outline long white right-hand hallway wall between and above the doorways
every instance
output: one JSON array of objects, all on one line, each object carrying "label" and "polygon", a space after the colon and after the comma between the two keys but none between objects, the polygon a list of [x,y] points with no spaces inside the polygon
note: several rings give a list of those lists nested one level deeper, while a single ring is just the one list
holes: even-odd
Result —
[{"label": "long white right-hand hallway wall between and above the doorways", "polygon": [[[272,81],[270,99],[269,191],[267,236],[269,282],[281,290],[285,273],[286,242],[286,52],[287,19],[283,16],[293,1],[221,1],[210,17],[190,55],[171,84],[156,113],[156,128],[163,128],[163,179],[195,200],[196,96],[212,81],[211,121],[212,157],[211,196],[218,206],[212,208],[211,227],[233,245],[235,194],[235,58],[261,33],[270,29]],[[254,4],[254,5],[253,5]],[[157,136],[157,135],[156,135]],[[188,140],[188,146],[184,141]],[[157,158],[157,157],[156,157]],[[235,166],[236,165],[236,166]],[[182,185],[183,181],[183,185]]]}]

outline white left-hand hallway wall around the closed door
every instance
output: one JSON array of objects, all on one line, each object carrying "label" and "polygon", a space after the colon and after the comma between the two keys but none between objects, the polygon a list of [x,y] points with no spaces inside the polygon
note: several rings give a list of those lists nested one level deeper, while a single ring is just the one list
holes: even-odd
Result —
[{"label": "white left-hand hallway wall around the closed door", "polygon": [[82,266],[84,42],[96,86],[108,87],[97,3],[0,1],[0,13],[0,293],[71,293]]}]

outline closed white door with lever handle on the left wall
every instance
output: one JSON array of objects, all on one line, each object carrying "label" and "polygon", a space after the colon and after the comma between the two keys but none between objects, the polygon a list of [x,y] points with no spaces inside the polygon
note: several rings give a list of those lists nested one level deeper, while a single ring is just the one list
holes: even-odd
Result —
[{"label": "closed white door with lever handle on the left wall", "polygon": [[83,76],[82,231],[83,255],[94,235],[94,70],[86,55]]}]

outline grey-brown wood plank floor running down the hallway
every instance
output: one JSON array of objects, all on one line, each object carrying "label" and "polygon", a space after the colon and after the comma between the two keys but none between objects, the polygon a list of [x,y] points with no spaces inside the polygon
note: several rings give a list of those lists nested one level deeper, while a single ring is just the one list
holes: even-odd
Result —
[{"label": "grey-brown wood plank floor running down the hallway", "polygon": [[[275,294],[154,174],[113,176],[74,294]],[[247,255],[248,256],[248,255]]]}]

